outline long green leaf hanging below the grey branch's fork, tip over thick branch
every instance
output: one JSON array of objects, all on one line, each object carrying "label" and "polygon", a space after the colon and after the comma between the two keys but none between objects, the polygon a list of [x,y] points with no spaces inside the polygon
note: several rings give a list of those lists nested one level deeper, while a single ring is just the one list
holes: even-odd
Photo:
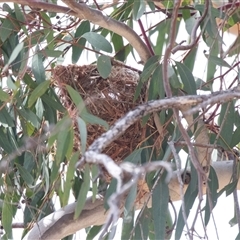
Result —
[{"label": "long green leaf hanging below the grey branch's fork, tip over thick branch", "polygon": [[77,202],[76,202],[76,209],[74,213],[74,219],[78,218],[79,215],[81,214],[85,202],[87,199],[87,193],[89,191],[90,187],[90,168],[89,165],[86,164],[84,167],[84,178],[83,178],[83,183],[81,185],[80,192],[78,194]]}]

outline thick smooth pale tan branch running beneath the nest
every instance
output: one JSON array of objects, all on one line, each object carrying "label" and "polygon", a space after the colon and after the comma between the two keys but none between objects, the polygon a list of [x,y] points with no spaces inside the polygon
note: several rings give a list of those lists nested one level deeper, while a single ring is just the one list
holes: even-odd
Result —
[{"label": "thick smooth pale tan branch running beneath the nest", "polygon": [[[214,162],[213,167],[217,173],[219,181],[219,189],[224,188],[232,178],[233,161]],[[183,170],[182,170],[183,171]],[[190,175],[191,176],[191,175]],[[170,198],[172,201],[178,201],[181,198],[177,171],[173,172],[169,183]],[[188,185],[184,185],[184,192]],[[237,189],[240,190],[240,182]],[[206,190],[204,190],[205,193]],[[148,196],[145,195],[145,199]],[[136,209],[142,208],[144,199],[138,202]],[[151,202],[149,203],[151,206]],[[62,239],[78,230],[92,226],[102,225],[107,219],[107,212],[104,209],[104,203],[101,198],[98,198],[94,203],[90,197],[81,213],[81,215],[73,220],[76,203],[71,203],[66,207],[46,216],[39,221],[32,230],[24,237],[24,240],[37,239]],[[57,231],[56,231],[57,229]]]}]

